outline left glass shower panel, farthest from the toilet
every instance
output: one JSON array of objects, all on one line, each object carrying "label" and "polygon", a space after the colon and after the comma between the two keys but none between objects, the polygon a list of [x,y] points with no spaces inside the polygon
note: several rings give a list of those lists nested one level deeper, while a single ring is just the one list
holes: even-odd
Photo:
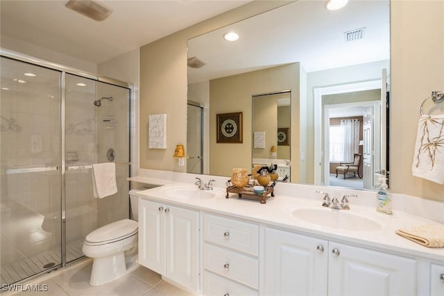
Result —
[{"label": "left glass shower panel, farthest from the toilet", "polygon": [[1,286],[61,259],[61,72],[1,57]]}]

